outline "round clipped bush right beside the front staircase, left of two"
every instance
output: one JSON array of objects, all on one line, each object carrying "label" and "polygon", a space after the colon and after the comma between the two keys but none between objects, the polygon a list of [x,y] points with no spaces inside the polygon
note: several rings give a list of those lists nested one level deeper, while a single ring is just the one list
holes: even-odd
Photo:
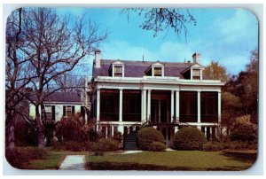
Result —
[{"label": "round clipped bush right beside the front staircase, left of two", "polygon": [[141,150],[149,151],[153,142],[164,143],[164,137],[155,128],[141,128],[137,132],[137,143]]}]

